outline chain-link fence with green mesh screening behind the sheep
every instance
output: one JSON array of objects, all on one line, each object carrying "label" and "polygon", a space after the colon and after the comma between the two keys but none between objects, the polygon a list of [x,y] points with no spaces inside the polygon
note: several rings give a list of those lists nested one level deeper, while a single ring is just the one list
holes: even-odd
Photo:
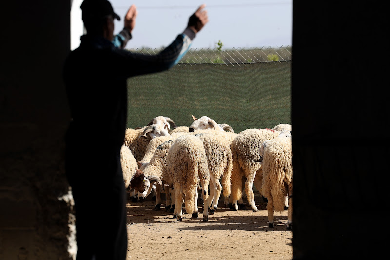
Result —
[{"label": "chain-link fence with green mesh screening behind the sheep", "polygon": [[226,123],[236,133],[291,124],[291,54],[289,46],[191,49],[168,71],[128,79],[127,126],[145,126],[156,116],[189,126],[192,115]]}]

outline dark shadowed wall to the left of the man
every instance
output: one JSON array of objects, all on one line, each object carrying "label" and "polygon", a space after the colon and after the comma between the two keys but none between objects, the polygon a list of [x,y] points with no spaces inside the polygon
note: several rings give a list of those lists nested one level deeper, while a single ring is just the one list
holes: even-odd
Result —
[{"label": "dark shadowed wall to the left of the man", "polygon": [[7,1],[1,15],[0,259],[69,259],[62,82],[70,1]]}]

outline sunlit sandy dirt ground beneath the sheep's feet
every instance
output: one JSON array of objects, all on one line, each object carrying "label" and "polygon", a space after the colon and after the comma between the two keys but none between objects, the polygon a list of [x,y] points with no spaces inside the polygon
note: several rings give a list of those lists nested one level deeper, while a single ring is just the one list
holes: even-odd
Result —
[{"label": "sunlit sandy dirt ground beneath the sheep's feet", "polygon": [[[246,209],[238,212],[223,205],[223,196],[214,215],[203,222],[185,213],[183,220],[173,219],[173,213],[153,210],[150,195],[144,202],[127,201],[127,259],[292,259],[292,232],[286,230],[287,210],[274,213],[275,228],[268,227],[267,203],[254,191],[259,212]],[[221,201],[222,200],[222,201]],[[199,205],[201,205],[199,203]],[[199,208],[200,209],[200,208]]]}]

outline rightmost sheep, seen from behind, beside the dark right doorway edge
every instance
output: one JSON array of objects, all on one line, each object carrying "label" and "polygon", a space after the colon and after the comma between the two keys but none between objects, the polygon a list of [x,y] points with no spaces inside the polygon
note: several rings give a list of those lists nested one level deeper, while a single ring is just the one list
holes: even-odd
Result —
[{"label": "rightmost sheep, seen from behind, beside the dark right doorway edge", "polygon": [[268,223],[273,228],[273,211],[282,212],[288,196],[287,229],[292,227],[292,143],[281,135],[265,142],[262,151],[262,192],[268,199]]}]

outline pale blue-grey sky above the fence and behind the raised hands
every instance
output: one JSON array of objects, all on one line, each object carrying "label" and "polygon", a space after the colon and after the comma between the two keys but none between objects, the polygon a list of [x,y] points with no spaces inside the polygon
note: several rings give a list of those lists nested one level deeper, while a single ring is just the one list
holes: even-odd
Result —
[{"label": "pale blue-grey sky above the fence and behind the raised hands", "polygon": [[209,22],[196,35],[191,48],[223,49],[292,46],[292,0],[110,0],[121,17],[114,33],[123,28],[131,6],[138,9],[136,26],[126,48],[168,46],[184,31],[188,18],[202,3]]}]

